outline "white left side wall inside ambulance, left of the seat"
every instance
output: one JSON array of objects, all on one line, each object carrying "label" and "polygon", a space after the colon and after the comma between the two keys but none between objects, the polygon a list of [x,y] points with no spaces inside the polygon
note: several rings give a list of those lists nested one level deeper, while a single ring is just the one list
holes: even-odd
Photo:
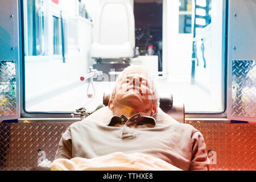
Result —
[{"label": "white left side wall inside ambulance, left of the seat", "polygon": [[[74,7],[71,6],[71,14],[68,14],[66,9],[66,14],[63,16],[68,24],[66,63],[63,63],[62,55],[52,55],[53,35],[51,21],[48,24],[50,28],[48,28],[47,39],[48,47],[51,49],[49,55],[25,57],[26,100],[40,97],[45,93],[57,92],[60,88],[66,88],[75,82],[81,82],[80,77],[88,73],[88,67],[90,66],[89,51],[92,43],[92,23],[89,20],[75,16]],[[49,18],[51,18],[51,15]]]}]

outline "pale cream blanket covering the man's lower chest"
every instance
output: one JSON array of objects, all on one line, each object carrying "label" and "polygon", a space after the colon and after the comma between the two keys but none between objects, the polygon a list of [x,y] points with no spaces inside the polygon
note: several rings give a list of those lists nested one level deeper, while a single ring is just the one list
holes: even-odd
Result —
[{"label": "pale cream blanket covering the man's lower chest", "polygon": [[51,164],[52,171],[180,171],[162,159],[154,156],[114,152],[92,159],[72,158],[55,159]]}]

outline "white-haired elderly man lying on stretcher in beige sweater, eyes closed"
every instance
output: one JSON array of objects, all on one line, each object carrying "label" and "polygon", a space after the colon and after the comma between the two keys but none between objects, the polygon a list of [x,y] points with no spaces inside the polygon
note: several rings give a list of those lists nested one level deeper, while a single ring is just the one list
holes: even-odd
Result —
[{"label": "white-haired elderly man lying on stretcher in beige sweater, eyes closed", "polygon": [[208,170],[203,135],[193,126],[171,117],[164,123],[156,121],[158,102],[154,81],[146,69],[126,68],[118,76],[110,96],[110,118],[97,121],[97,116],[102,119],[102,113],[96,111],[93,121],[73,123],[61,137],[55,159],[93,159],[114,152],[137,152],[179,169]]}]

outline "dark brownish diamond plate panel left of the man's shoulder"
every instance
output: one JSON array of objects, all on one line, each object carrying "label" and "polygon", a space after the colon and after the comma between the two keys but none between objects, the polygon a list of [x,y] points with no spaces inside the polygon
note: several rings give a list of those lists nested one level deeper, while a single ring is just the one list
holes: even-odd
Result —
[{"label": "dark brownish diamond plate panel left of the man's shoulder", "polygon": [[0,170],[27,170],[44,151],[53,161],[62,133],[71,123],[0,123]]}]

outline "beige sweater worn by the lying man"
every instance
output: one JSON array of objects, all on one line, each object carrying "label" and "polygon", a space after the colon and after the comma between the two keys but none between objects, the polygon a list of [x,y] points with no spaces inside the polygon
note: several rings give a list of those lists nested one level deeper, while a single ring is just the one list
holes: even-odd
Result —
[{"label": "beige sweater worn by the lying man", "polygon": [[93,159],[114,152],[141,153],[183,170],[209,169],[203,135],[193,126],[172,120],[160,124],[156,119],[154,127],[138,126],[131,129],[133,137],[122,138],[122,126],[107,126],[106,118],[96,119],[100,118],[98,114],[102,111],[104,113],[101,109],[93,113],[94,116],[68,127],[60,139],[55,159]]}]

